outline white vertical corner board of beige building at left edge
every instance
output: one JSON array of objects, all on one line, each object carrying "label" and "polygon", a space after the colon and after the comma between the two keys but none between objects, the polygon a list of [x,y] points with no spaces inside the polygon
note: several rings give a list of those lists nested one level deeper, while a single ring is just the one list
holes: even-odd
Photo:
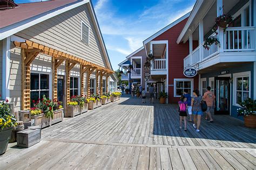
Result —
[{"label": "white vertical corner board of beige building at left edge", "polygon": [[3,39],[2,99],[10,100],[10,49],[11,37]]}]

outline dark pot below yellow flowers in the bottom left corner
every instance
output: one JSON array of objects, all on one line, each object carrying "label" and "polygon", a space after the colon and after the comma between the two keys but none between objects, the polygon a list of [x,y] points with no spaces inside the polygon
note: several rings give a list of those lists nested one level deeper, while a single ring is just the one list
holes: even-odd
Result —
[{"label": "dark pot below yellow flowers in the bottom left corner", "polygon": [[7,149],[11,131],[12,127],[0,130],[0,155],[4,154]]}]

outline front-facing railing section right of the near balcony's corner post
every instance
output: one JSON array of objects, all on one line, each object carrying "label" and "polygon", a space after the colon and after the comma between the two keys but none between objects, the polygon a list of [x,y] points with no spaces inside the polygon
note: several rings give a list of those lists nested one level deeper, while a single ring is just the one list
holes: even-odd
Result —
[{"label": "front-facing railing section right of the near balcony's corner post", "polygon": [[227,28],[224,33],[224,51],[254,51],[255,27]]}]

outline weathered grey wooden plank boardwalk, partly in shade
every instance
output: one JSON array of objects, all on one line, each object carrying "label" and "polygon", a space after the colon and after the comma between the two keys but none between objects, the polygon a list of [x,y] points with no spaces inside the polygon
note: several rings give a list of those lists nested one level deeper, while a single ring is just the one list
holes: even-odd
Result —
[{"label": "weathered grey wooden plank boardwalk, partly in shade", "polygon": [[124,97],[43,129],[35,146],[10,144],[0,169],[256,169],[256,130],[214,120],[180,130],[177,105]]}]

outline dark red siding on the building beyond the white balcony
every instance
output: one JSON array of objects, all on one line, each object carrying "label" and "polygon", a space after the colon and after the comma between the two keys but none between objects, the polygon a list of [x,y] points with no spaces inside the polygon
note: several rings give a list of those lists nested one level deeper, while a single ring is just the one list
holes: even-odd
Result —
[{"label": "dark red siding on the building beyond the white balcony", "polygon": [[[165,31],[154,40],[168,40],[168,65],[169,65],[169,103],[177,103],[179,98],[174,98],[173,79],[187,78],[183,74],[183,59],[189,53],[189,42],[177,44],[176,41],[187,19]],[[198,77],[194,78],[194,89],[198,88]]]}]

